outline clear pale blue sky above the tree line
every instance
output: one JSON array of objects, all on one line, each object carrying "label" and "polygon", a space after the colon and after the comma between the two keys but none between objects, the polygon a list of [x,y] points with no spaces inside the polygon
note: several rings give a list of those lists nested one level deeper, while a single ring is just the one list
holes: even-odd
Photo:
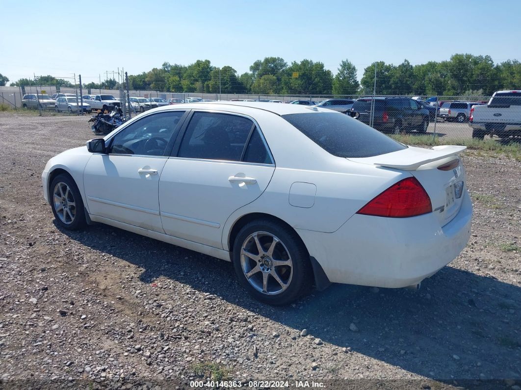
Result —
[{"label": "clear pale blue sky above the tree line", "polygon": [[[248,71],[256,59],[342,59],[363,70],[383,60],[412,64],[454,53],[521,59],[521,1],[4,1],[0,73],[97,81],[164,61],[209,59]],[[127,33],[126,35],[124,33]],[[115,43],[111,43],[115,42]]]}]

